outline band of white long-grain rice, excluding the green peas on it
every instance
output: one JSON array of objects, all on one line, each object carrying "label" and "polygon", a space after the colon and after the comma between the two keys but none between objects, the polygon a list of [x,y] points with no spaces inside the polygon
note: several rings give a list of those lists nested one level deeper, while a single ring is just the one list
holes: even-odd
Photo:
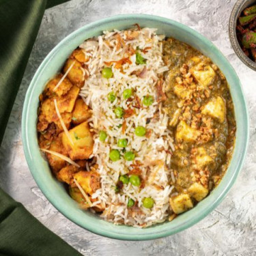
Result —
[{"label": "band of white long-grain rice, excluding the green peas on it", "polygon": [[[136,36],[132,38],[133,35]],[[169,167],[170,152],[174,150],[173,139],[167,129],[168,116],[162,113],[161,104],[156,102],[156,83],[162,73],[168,70],[162,61],[163,38],[165,36],[156,35],[156,29],[150,28],[135,32],[134,30],[104,31],[103,35],[87,40],[80,46],[89,57],[86,62],[87,69],[85,69],[89,77],[81,89],[81,96],[91,107],[93,114],[90,125],[95,134],[91,157],[94,157],[98,164],[97,171],[100,173],[101,183],[101,188],[96,190],[91,198],[96,199],[93,205],[106,205],[101,216],[115,224],[147,227],[167,220],[171,212],[169,196],[173,186],[170,186],[170,181],[173,181],[174,176]],[[134,53],[138,48],[145,49],[146,51],[139,51],[139,53],[146,63],[138,65],[136,55],[128,54],[129,47]],[[131,63],[123,63],[122,70],[115,68],[116,63],[113,63],[113,77],[111,79],[102,77],[102,68],[106,66],[106,62],[124,58],[129,58]],[[145,74],[140,77],[138,74],[142,72]],[[128,88],[134,91],[132,103],[124,100],[122,96],[124,89]],[[116,96],[112,103],[107,99],[111,91]],[[141,108],[134,107],[135,94],[141,102],[145,96],[154,96],[154,104]],[[113,113],[115,106],[121,106],[124,110],[130,108],[134,111],[134,115],[125,118],[125,134],[120,127],[124,119],[117,118]],[[137,126],[150,130],[150,137],[137,137],[134,134]],[[104,143],[98,138],[100,130],[105,130],[108,134]],[[126,151],[135,152],[134,161],[143,164],[139,168],[145,186],[139,188],[128,183],[124,184],[122,193],[115,193],[119,175],[124,175],[132,169],[130,166],[132,162],[124,160],[122,148],[117,147],[117,140],[120,138],[128,140]],[[109,159],[111,149],[119,150],[120,160],[112,162]],[[154,199],[152,209],[141,207],[145,197]],[[129,198],[137,202],[136,210],[127,207]]]}]

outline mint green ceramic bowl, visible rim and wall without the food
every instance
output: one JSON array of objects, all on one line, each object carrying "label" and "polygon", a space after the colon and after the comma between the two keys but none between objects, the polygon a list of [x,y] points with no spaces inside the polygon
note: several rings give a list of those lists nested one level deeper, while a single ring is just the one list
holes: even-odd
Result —
[{"label": "mint green ceramic bowl, visible rim and wall without the food", "polygon": [[[238,126],[233,158],[221,184],[192,210],[178,216],[171,222],[154,225],[146,229],[113,225],[103,221],[89,211],[80,210],[69,197],[63,185],[51,174],[51,170],[39,150],[36,132],[38,96],[43,91],[48,79],[51,79],[60,70],[73,49],[85,39],[100,35],[103,30],[127,29],[134,23],[139,23],[141,27],[156,27],[158,28],[158,33],[164,33],[167,36],[186,42],[210,57],[223,71],[230,85]],[[22,137],[27,163],[35,182],[59,212],[77,225],[102,236],[121,240],[150,240],[172,235],[194,225],[221,203],[235,182],[244,162],[248,144],[248,112],[244,93],[236,72],[212,42],[193,29],[173,20],[158,16],[131,14],[105,18],[81,27],[81,29],[68,35],[53,48],[53,51],[47,55],[35,76],[33,76],[27,91],[23,109]]]}]

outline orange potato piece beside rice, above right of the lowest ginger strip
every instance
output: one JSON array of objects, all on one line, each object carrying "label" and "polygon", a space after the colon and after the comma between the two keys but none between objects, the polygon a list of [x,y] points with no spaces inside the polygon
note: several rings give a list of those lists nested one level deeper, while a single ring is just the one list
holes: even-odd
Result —
[{"label": "orange potato piece beside rice, above right of the lowest ginger strip", "polygon": [[74,178],[89,195],[100,188],[100,175],[96,171],[79,171],[74,174]]}]

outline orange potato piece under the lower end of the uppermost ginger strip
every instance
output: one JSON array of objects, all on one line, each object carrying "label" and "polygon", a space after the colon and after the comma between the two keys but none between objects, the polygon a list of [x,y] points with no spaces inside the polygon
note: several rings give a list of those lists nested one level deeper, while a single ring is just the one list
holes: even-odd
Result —
[{"label": "orange potato piece under the lower end of the uppermost ginger strip", "polygon": [[46,89],[45,89],[47,96],[53,96],[54,94],[57,94],[57,96],[61,96],[63,94],[66,94],[70,90],[70,88],[72,87],[72,83],[70,83],[70,81],[67,78],[65,78],[61,82],[61,84],[59,85],[59,87],[57,87],[55,91],[53,90],[57,85],[57,83],[59,83],[59,81],[61,80],[62,76],[63,74],[59,74],[54,79],[51,79],[51,81],[47,83]]}]

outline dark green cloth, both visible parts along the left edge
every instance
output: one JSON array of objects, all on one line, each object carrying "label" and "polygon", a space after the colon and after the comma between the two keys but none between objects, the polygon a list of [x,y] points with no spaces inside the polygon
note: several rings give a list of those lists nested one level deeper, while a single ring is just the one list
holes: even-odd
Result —
[{"label": "dark green cloth, both visible parts along the left edge", "polygon": [[[0,0],[0,144],[46,8],[68,0]],[[0,255],[81,255],[0,188]]]}]

